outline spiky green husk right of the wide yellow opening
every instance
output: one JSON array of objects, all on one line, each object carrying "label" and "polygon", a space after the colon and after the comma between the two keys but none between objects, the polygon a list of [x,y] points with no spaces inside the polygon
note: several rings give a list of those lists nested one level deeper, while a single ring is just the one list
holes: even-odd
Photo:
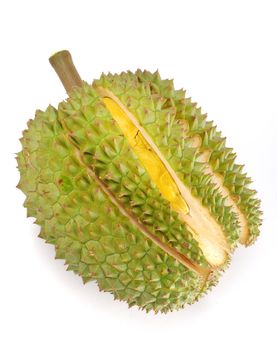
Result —
[{"label": "spiky green husk right of the wide yellow opening", "polygon": [[[199,160],[204,151],[209,151],[209,165],[222,177],[224,186],[246,216],[247,245],[255,241],[262,212],[256,191],[248,187],[251,180],[242,173],[243,166],[235,163],[235,153],[225,146],[225,138],[213,122],[206,120],[206,115],[185,97],[183,90],[175,90],[173,81],[162,80],[158,72],[140,70],[135,74],[102,74],[95,84],[111,90],[137,117],[178,177],[224,226],[229,244],[235,247],[239,232],[236,215],[225,204],[226,198],[211,176],[204,174],[205,164]],[[199,146],[194,146],[195,136],[200,139]]]}]

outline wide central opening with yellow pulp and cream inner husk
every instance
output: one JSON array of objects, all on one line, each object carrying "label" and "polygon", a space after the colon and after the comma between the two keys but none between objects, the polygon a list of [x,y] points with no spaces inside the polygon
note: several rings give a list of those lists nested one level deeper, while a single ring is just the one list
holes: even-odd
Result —
[{"label": "wide central opening with yellow pulp and cream inner husk", "polygon": [[178,179],[149,135],[121,101],[107,89],[97,87],[97,90],[161,195],[189,227],[207,261],[212,266],[222,265],[226,261],[229,247],[221,226]]}]

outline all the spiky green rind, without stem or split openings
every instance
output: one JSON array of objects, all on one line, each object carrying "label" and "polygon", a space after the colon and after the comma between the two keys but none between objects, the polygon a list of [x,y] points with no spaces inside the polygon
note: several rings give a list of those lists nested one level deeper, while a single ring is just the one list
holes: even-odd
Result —
[{"label": "all the spiky green rind, without stem or split openings", "polygon": [[[236,194],[250,222],[249,242],[255,240],[260,210],[255,193],[246,187],[249,179],[183,92],[157,73],[141,71],[102,76],[97,85],[111,89],[138,117],[178,177],[220,222],[233,250],[239,239],[237,217],[198,161],[202,149],[212,150],[213,169]],[[189,125],[189,136],[183,136],[182,120]],[[195,134],[201,137],[200,148],[193,146]],[[138,162],[94,86],[76,89],[58,109],[37,111],[21,143],[18,187],[26,194],[27,215],[41,226],[40,237],[55,245],[56,257],[84,282],[95,280],[116,299],[155,312],[192,304],[217,283],[225,266],[203,279],[145,237],[116,205],[121,203],[178,253],[209,268],[197,241]]]}]

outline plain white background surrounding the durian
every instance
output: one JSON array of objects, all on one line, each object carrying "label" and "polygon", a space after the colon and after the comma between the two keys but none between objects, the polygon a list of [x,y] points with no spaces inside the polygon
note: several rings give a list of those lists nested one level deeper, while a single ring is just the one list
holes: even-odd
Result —
[{"label": "plain white background surrounding the durian", "polygon": [[[2,1],[0,348],[276,349],[276,1]],[[83,79],[146,68],[174,78],[246,164],[263,202],[257,243],[206,298],[145,314],[83,286],[37,238],[14,154],[36,108],[66,97],[48,63],[69,49]]]}]

